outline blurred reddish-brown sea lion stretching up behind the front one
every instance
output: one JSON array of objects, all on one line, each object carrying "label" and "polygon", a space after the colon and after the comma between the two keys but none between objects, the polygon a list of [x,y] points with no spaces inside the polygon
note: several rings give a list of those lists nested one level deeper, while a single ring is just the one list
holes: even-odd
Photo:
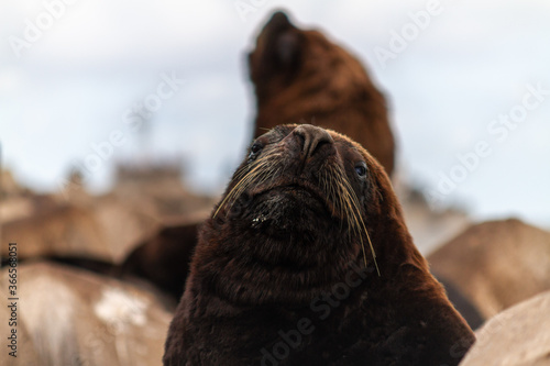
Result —
[{"label": "blurred reddish-brown sea lion stretching up behind the front one", "polygon": [[349,52],[276,12],[257,36],[249,68],[255,137],[284,123],[320,125],[352,136],[392,174],[395,142],[385,98]]}]

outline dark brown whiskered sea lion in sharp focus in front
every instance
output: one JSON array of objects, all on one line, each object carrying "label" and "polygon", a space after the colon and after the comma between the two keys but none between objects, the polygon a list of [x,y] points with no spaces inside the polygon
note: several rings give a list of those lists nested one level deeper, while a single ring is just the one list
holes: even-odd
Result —
[{"label": "dark brown whiskered sea lion in sharp focus in front", "polygon": [[337,132],[282,125],[202,226],[163,359],[458,365],[473,342],[382,166]]}]

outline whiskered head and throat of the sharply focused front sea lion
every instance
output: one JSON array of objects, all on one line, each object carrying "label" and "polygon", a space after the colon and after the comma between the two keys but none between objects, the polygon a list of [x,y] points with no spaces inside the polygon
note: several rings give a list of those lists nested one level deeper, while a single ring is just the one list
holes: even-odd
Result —
[{"label": "whiskered head and throat of the sharply focused front sea lion", "polygon": [[372,231],[398,214],[392,195],[358,143],[314,125],[277,126],[254,141],[207,220],[191,277],[237,302],[307,301],[351,264],[375,268],[383,249]]}]

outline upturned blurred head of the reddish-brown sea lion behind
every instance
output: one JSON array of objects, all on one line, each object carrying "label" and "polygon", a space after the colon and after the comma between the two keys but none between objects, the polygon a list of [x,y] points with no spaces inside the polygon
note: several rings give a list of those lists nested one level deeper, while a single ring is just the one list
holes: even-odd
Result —
[{"label": "upturned blurred head of the reddish-brown sea lion behind", "polygon": [[[297,27],[283,11],[275,12],[261,30],[249,54],[249,69],[258,102],[288,87],[306,93],[308,89],[311,92],[311,86],[320,85],[330,85],[331,93],[341,92],[342,97],[356,95],[358,89],[377,95],[366,90],[372,82],[355,57],[320,31]],[[338,78],[327,75],[329,70]]]}]

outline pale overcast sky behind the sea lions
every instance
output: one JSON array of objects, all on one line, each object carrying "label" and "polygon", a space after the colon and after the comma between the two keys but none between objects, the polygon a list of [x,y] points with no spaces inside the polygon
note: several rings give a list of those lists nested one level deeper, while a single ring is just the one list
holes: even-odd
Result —
[{"label": "pale overcast sky behind the sea lions", "polygon": [[[277,8],[364,62],[388,97],[402,171],[437,202],[550,226],[547,0],[0,0],[3,163],[55,190],[75,162],[99,162],[86,177],[101,191],[117,162],[184,156],[188,182],[218,192],[251,136],[244,54]],[[128,111],[170,77],[185,81],[162,89],[144,138]]]}]

